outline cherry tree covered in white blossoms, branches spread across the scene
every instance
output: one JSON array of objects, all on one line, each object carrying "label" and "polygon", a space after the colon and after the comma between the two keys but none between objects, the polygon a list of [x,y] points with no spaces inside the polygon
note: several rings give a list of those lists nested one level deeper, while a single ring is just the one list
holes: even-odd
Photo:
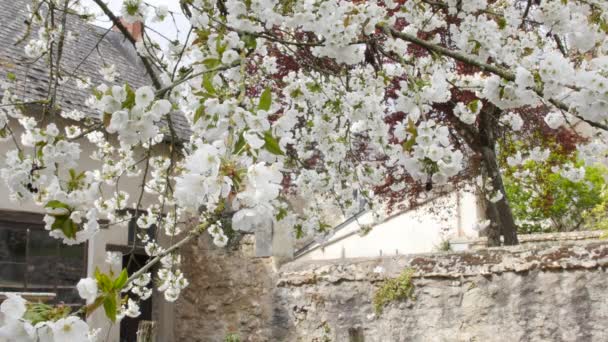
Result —
[{"label": "cherry tree covered in white blossoms, branches spread across the scene", "polygon": [[[179,248],[200,234],[218,246],[270,223],[309,234],[328,228],[328,206],[349,216],[361,198],[382,219],[411,194],[470,181],[483,191],[489,244],[517,244],[497,157],[506,136],[568,132],[580,160],[606,161],[604,0],[182,0],[190,33],[168,48],[147,35],[136,41],[124,25],[142,21],[146,31],[171,20],[166,7],[125,0],[112,13],[94,2],[134,45],[151,84],[112,85],[116,69],[106,66],[108,84],[92,84],[87,101],[96,119],[62,111],[62,83],[86,82],[61,68],[65,23],[91,15],[78,0],[32,1],[22,46],[47,61],[49,89],[23,98],[22,80],[3,81],[0,136],[12,149],[0,172],[10,198],[43,208],[49,234],[66,244],[132,217],[171,243],[140,234],[150,261],[131,276],[82,280],[78,312],[10,297],[0,337],[82,340],[91,333],[78,315],[137,316],[152,286],[175,301],[188,285]],[[27,115],[32,104],[42,118]],[[186,139],[175,113],[190,124]],[[85,141],[101,166],[76,172]],[[159,147],[167,153],[153,153]],[[139,194],[117,186],[138,175]],[[144,193],[153,204],[142,204]]]}]

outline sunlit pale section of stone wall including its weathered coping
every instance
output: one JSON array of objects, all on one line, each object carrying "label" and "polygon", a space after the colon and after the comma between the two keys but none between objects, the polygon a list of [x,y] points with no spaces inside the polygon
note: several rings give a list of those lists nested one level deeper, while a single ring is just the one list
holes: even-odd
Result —
[{"label": "sunlit pale section of stone wall including its weathered coping", "polygon": [[[289,341],[606,341],[607,256],[593,242],[294,263],[275,305],[291,308]],[[416,300],[376,315],[380,280],[407,267]]]}]

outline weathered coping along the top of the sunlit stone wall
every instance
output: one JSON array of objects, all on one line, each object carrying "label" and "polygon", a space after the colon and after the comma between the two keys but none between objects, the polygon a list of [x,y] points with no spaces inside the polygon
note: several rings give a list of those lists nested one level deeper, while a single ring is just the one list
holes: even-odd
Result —
[{"label": "weathered coping along the top of the sunlit stone wall", "polygon": [[413,268],[415,278],[458,279],[504,272],[596,269],[608,266],[608,240],[494,247],[461,252],[318,261],[294,261],[279,269],[278,287],[348,281],[376,282]]}]

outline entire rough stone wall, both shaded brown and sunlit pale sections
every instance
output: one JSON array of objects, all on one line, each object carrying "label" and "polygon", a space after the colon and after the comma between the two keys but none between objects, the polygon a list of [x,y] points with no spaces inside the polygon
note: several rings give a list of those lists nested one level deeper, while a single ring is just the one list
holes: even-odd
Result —
[{"label": "entire rough stone wall, both shaded brown and sunlit pale sections", "polygon": [[[241,341],[608,341],[608,242],[293,262],[277,273],[241,249],[201,253],[178,304],[182,340],[223,341],[233,329]],[[376,314],[376,289],[407,268],[415,300]]]}]

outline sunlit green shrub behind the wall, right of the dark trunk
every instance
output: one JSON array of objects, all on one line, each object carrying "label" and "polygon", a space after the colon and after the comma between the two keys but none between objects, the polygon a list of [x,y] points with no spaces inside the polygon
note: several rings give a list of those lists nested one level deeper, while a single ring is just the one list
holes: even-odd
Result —
[{"label": "sunlit green shrub behind the wall, right of the dark trunk", "polygon": [[[509,165],[507,158],[526,156],[534,147],[550,150],[544,161],[526,158]],[[601,164],[585,165],[576,150],[564,148],[555,138],[518,139],[508,136],[499,148],[507,199],[518,233],[550,233],[598,229],[606,225],[608,170]],[[580,181],[571,181],[559,171],[565,165],[584,168]]]}]

